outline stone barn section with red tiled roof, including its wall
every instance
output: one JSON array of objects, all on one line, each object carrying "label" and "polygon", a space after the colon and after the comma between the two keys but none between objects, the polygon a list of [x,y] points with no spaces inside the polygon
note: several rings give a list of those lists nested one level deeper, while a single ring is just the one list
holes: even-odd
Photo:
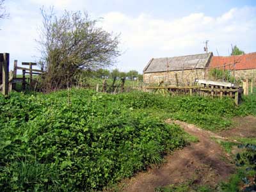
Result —
[{"label": "stone barn section with red tiled roof, including its wall", "polygon": [[256,52],[236,56],[212,56],[211,68],[229,70],[236,79],[255,79],[256,77]]}]

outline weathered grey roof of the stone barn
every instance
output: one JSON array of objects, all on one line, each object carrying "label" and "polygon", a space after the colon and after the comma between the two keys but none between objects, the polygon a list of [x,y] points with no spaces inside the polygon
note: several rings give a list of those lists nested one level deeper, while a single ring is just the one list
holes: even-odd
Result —
[{"label": "weathered grey roof of the stone barn", "polygon": [[188,70],[205,68],[211,59],[212,52],[204,54],[193,54],[188,56],[177,56],[172,58],[152,58],[144,68],[144,73],[166,72],[173,70]]}]

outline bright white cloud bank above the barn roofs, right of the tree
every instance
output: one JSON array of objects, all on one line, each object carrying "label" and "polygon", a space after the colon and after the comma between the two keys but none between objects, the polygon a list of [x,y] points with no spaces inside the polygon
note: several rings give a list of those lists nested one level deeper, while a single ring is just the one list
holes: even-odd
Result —
[{"label": "bright white cloud bank above the barn roofs, right of the tree", "polygon": [[205,40],[210,40],[210,51],[218,49],[220,54],[228,54],[230,44],[237,44],[244,51],[256,51],[256,47],[246,50],[252,47],[256,35],[256,8],[253,7],[232,8],[220,17],[191,13],[175,20],[154,19],[143,13],[129,17],[120,12],[102,17],[104,29],[121,33],[122,48],[128,51],[120,58],[125,63],[119,66],[125,70],[141,71],[152,57],[203,52]]}]

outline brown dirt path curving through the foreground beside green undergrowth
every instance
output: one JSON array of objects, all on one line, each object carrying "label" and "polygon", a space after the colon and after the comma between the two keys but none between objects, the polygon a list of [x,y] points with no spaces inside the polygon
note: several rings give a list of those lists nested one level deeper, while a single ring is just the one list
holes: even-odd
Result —
[{"label": "brown dirt path curving through the foreground beside green undergrowth", "polygon": [[211,136],[222,138],[221,136],[185,122],[171,120],[166,122],[179,124],[186,132],[196,136],[199,142],[191,143],[188,147],[166,156],[166,163],[159,168],[150,168],[147,172],[138,173],[131,179],[125,180],[122,191],[149,192],[159,186],[187,180],[193,180],[196,184],[214,186],[234,172],[234,165],[229,163],[227,154],[221,150],[220,145],[211,140]]}]

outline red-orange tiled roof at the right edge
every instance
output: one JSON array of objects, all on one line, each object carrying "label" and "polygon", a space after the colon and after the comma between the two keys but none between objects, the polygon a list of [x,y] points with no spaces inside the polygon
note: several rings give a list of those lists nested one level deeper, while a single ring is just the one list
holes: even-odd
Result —
[{"label": "red-orange tiled roof at the right edge", "polygon": [[236,70],[256,69],[256,52],[241,54],[236,56],[212,56],[210,67],[234,70],[234,63]]}]

